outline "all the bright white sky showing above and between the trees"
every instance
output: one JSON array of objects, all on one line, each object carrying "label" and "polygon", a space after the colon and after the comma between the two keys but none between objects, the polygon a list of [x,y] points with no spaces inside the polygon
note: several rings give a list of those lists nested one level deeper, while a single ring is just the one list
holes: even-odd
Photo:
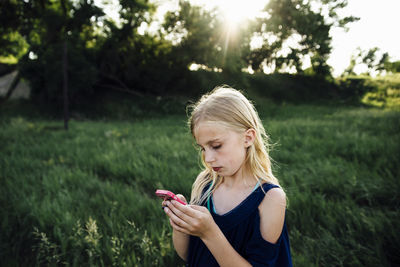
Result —
[{"label": "all the bright white sky showing above and between the trees", "polygon": [[[158,16],[178,5],[176,0],[153,0],[161,5]],[[233,16],[252,16],[268,0],[190,0],[193,3],[220,5]],[[101,0],[95,0],[100,3]],[[113,1],[111,1],[113,2]],[[111,17],[117,16],[117,8],[105,10]],[[357,48],[367,51],[378,47],[378,56],[388,52],[391,61],[400,60],[400,0],[348,0],[348,5],[339,13],[353,15],[360,20],[348,24],[349,30],[332,29],[332,52],[328,64],[333,75],[340,75],[349,66],[352,54]],[[357,66],[356,73],[364,72],[365,66]]]}]

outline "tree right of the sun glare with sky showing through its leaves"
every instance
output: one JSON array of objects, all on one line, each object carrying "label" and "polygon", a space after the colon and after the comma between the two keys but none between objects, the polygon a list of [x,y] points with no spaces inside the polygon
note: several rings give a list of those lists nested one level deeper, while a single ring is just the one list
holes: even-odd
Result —
[{"label": "tree right of the sun glare with sky showing through its leaves", "polygon": [[339,17],[337,11],[346,5],[346,0],[270,0],[264,9],[265,17],[255,24],[262,46],[249,53],[249,64],[254,70],[267,65],[275,71],[294,67],[302,73],[308,57],[313,73],[329,75],[326,63],[331,52],[329,31],[358,19]]}]

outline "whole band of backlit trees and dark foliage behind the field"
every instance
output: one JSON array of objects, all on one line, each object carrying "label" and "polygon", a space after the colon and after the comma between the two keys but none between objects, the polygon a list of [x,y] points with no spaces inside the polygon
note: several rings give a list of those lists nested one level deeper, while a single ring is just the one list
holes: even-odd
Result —
[{"label": "whole band of backlit trees and dark foliage behind the field", "polygon": [[[168,12],[156,31],[143,32],[155,18],[156,4],[117,2],[119,19],[114,21],[94,0],[1,1],[0,57],[17,62],[22,78],[31,84],[32,98],[55,109],[62,103],[62,69],[67,66],[69,103],[75,108],[104,90],[189,95],[188,68],[193,63],[224,77],[241,76],[237,80],[245,83],[243,69],[248,66],[260,70],[266,63],[276,71],[294,67],[302,73],[302,62],[309,57],[308,74],[327,77],[329,30],[355,20],[337,15],[347,4],[344,0],[274,0],[264,18],[229,26],[221,10],[179,1],[178,10]],[[257,36],[263,46],[252,50]],[[282,53],[296,38],[299,45]]]}]

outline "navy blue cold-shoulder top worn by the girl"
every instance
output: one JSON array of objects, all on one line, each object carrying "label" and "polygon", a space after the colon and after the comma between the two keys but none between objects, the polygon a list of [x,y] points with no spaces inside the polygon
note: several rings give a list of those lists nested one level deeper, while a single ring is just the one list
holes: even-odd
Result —
[{"label": "navy blue cold-shoulder top worn by the girl", "polygon": [[[278,187],[273,184],[262,185],[265,192]],[[258,206],[265,193],[258,187],[238,206],[224,215],[215,213],[212,197],[208,199],[211,215],[232,247],[253,266],[292,266],[289,236],[286,219],[282,233],[272,244],[266,241],[260,232],[260,215]],[[207,202],[203,203],[207,207]],[[219,266],[214,256],[203,241],[190,236],[187,266]]]}]

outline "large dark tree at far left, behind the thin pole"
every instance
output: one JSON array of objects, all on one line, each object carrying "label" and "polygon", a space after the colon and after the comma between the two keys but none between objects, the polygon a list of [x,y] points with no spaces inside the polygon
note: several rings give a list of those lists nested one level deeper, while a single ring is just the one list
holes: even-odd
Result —
[{"label": "large dark tree at far left, behind the thin pole", "polygon": [[14,13],[10,22],[2,24],[2,31],[17,32],[28,45],[17,68],[30,82],[32,98],[54,106],[63,102],[64,42],[70,48],[68,77],[72,90],[68,96],[77,104],[90,95],[96,69],[92,64],[93,49],[88,43],[96,35],[93,18],[104,16],[102,10],[93,1],[83,0],[5,0],[2,3]]}]

